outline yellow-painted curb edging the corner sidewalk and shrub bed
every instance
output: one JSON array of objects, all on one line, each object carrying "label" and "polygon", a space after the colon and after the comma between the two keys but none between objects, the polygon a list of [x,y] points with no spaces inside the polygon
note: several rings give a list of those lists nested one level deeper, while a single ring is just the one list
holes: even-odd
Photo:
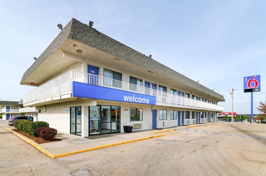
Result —
[{"label": "yellow-painted curb edging the corner sidewalk and shrub bed", "polygon": [[[99,147],[94,147],[94,148],[89,148],[89,149],[84,149],[84,150],[77,150],[77,151],[74,151],[74,152],[69,152],[69,153],[63,153],[63,154],[54,155],[54,154],[48,152],[47,150],[44,150],[43,148],[41,148],[38,144],[35,144],[32,141],[28,140],[23,135],[20,135],[19,133],[16,133],[15,131],[11,130],[10,128],[6,128],[6,129],[8,131],[14,133],[16,136],[20,137],[21,139],[23,139],[27,143],[29,143],[32,146],[34,146],[36,149],[40,150],[40,152],[46,154],[47,156],[49,156],[51,158],[59,158],[59,157],[62,157],[62,156],[68,156],[68,155],[72,155],[72,154],[76,154],[76,153],[89,152],[89,151],[92,151],[92,150],[104,149],[104,148],[108,148],[108,147],[112,147],[112,146],[117,146],[117,145],[122,145],[122,144],[127,144],[127,143],[133,143],[133,142],[143,141],[143,140],[147,140],[147,139],[152,139],[152,138],[156,138],[156,137],[166,136],[166,135],[157,135],[157,136],[151,136],[151,137],[144,137],[144,138],[141,138],[141,139],[135,139],[135,140],[124,141],[124,142],[120,142],[120,143],[102,145],[102,146],[99,146]],[[168,131],[172,131],[172,130],[168,130]]]}]

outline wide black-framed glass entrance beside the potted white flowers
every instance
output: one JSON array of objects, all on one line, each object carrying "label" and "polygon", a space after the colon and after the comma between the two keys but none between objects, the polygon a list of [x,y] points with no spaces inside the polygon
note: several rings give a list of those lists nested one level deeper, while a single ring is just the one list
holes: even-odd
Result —
[{"label": "wide black-framed glass entrance beside the potted white flowers", "polygon": [[89,108],[90,135],[120,132],[120,106],[97,105]]}]

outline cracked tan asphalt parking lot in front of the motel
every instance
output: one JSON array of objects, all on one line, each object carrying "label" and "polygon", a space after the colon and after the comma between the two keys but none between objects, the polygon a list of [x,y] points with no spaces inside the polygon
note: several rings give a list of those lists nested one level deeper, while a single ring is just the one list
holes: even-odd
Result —
[{"label": "cracked tan asphalt parking lot in front of the motel", "polygon": [[1,175],[265,175],[266,125],[217,123],[51,159],[0,123]]}]

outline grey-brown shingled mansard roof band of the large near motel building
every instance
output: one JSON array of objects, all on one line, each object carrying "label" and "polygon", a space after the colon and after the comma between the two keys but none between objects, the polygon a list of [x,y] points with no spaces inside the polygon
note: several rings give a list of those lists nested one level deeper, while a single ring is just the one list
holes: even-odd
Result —
[{"label": "grey-brown shingled mansard roof band of the large near motel building", "polygon": [[45,61],[53,52],[56,51],[68,38],[81,42],[85,45],[131,62],[152,72],[161,74],[171,78],[184,85],[202,91],[213,97],[225,101],[224,97],[207,87],[193,81],[192,79],[174,71],[173,69],[143,55],[142,53],[120,43],[117,40],[108,37],[107,35],[95,30],[87,24],[81,23],[72,18],[70,22],[63,28],[45,51],[36,59],[30,68],[23,74],[22,83],[43,61]]}]

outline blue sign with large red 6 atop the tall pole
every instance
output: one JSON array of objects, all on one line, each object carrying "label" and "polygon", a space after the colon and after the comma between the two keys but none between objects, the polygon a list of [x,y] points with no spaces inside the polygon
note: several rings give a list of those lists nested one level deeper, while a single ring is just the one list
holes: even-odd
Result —
[{"label": "blue sign with large red 6 atop the tall pole", "polygon": [[244,77],[244,93],[260,91],[260,75]]}]

